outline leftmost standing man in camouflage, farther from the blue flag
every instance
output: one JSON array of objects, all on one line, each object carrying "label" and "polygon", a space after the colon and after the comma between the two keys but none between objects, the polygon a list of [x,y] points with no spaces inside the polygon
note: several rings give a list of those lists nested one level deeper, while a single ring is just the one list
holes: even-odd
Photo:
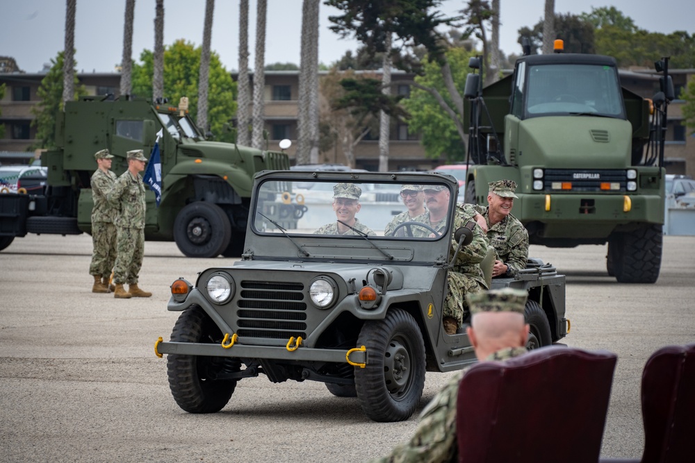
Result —
[{"label": "leftmost standing man in camouflage, farther from the blue flag", "polygon": [[108,149],[95,153],[98,169],[92,174],[92,262],[90,275],[94,276],[92,292],[108,293],[109,278],[116,260],[116,226],[114,221],[118,210],[106,200],[116,181],[116,174],[111,169],[113,155]]}]

